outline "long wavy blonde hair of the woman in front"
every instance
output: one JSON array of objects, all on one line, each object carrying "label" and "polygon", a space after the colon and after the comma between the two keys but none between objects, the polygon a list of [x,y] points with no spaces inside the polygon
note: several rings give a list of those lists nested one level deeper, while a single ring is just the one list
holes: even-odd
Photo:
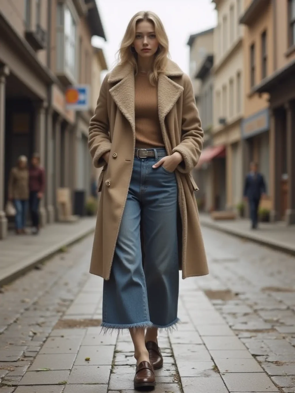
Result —
[{"label": "long wavy blonde hair of the woman in front", "polygon": [[118,64],[123,66],[129,63],[134,67],[135,72],[137,73],[137,53],[131,52],[131,46],[135,40],[136,25],[138,22],[142,22],[143,20],[153,24],[157,40],[159,41],[159,50],[155,54],[153,71],[149,77],[151,84],[155,85],[158,81],[159,74],[165,71],[169,57],[168,37],[160,18],[155,13],[151,11],[140,11],[131,18],[118,51]]}]

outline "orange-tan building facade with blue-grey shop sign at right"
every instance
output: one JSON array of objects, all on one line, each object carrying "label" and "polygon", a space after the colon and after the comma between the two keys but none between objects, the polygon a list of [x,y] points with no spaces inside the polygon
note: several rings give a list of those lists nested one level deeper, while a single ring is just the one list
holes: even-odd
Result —
[{"label": "orange-tan building facade with blue-grey shop sign at right", "polygon": [[244,27],[244,119],[242,139],[246,167],[258,163],[267,186],[267,198],[262,208],[271,207],[269,94],[253,94],[253,88],[273,72],[273,5],[270,1],[245,0],[240,18]]}]

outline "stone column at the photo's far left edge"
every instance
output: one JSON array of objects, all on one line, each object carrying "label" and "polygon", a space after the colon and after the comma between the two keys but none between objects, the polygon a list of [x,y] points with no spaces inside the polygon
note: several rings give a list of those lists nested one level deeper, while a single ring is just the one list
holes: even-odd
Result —
[{"label": "stone column at the photo's far left edge", "polygon": [[7,236],[7,218],[4,212],[4,190],[5,190],[5,100],[6,77],[9,75],[9,68],[0,68],[0,239]]}]

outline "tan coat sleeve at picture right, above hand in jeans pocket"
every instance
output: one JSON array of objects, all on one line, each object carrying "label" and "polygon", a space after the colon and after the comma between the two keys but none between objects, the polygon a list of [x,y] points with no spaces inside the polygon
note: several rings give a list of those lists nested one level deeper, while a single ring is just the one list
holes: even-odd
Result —
[{"label": "tan coat sleeve at picture right, above hand in jeans pocket", "polygon": [[181,143],[172,152],[178,151],[183,161],[177,167],[180,172],[189,173],[197,165],[203,148],[204,132],[201,126],[199,111],[195,105],[192,82],[184,75],[183,113],[181,127]]}]

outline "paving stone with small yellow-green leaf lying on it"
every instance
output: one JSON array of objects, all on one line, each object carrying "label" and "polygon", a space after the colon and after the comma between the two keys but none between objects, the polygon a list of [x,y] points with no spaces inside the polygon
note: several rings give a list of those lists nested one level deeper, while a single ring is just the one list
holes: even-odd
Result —
[{"label": "paving stone with small yellow-green leaf lying on it", "polygon": [[[81,346],[75,360],[75,365],[111,365],[114,357],[115,347],[112,345],[103,345],[90,347]],[[90,358],[86,361],[85,358]]]}]

